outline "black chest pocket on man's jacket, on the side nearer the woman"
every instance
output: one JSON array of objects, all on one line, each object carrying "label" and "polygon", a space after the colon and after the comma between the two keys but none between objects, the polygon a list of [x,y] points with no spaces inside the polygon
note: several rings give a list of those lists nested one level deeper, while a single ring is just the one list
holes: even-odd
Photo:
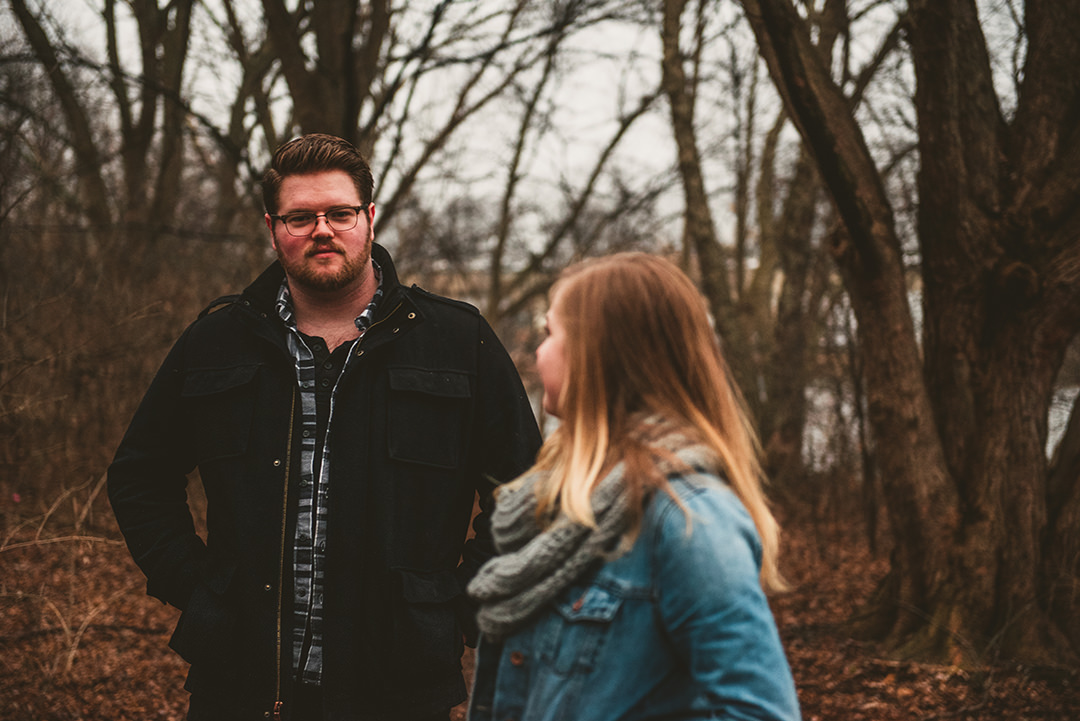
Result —
[{"label": "black chest pocket on man's jacket, on the side nearer the woman", "polygon": [[472,390],[456,370],[390,368],[387,443],[390,458],[457,468]]}]

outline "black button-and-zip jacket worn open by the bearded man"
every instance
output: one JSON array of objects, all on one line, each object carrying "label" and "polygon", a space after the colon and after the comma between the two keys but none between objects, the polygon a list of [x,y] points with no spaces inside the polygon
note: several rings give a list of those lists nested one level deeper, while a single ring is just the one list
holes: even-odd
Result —
[{"label": "black button-and-zip jacket worn open by the bearded man", "polygon": [[[513,363],[476,309],[401,286],[386,250],[373,254],[386,295],[332,421],[326,719],[423,716],[464,698],[464,586],[494,553],[486,513],[463,543],[474,492],[486,512],[540,445]],[[300,423],[274,311],[283,277],[274,263],[187,328],[109,467],[147,593],[183,610],[170,645],[191,664],[192,719],[262,719],[279,700],[289,716]],[[205,544],[185,490],[197,467]]]}]

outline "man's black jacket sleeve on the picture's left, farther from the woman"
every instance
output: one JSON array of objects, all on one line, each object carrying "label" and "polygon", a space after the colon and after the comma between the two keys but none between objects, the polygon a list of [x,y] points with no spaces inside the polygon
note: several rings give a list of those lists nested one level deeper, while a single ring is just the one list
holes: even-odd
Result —
[{"label": "man's black jacket sleeve on the picture's left, farther from the woman", "polygon": [[109,502],[147,594],[179,609],[200,576],[205,546],[195,533],[187,499],[194,467],[183,423],[181,336],[135,411],[108,471]]}]

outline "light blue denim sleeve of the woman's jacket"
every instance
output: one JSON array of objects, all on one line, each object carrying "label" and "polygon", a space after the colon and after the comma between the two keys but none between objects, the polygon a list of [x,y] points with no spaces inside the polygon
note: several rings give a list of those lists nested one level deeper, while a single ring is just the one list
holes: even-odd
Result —
[{"label": "light blue denim sleeve of the woman's jacket", "polygon": [[677,655],[723,718],[796,721],[750,515],[726,487],[697,488],[685,501],[688,515],[664,499],[654,542],[660,612]]}]

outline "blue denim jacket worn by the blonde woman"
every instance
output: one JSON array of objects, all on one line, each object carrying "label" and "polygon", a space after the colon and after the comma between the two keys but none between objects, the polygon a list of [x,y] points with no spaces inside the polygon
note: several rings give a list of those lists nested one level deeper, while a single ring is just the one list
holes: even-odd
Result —
[{"label": "blue denim jacket worn by the blonde woman", "polygon": [[750,515],[715,476],[672,487],[689,516],[658,493],[630,553],[482,638],[470,721],[800,718]]}]

